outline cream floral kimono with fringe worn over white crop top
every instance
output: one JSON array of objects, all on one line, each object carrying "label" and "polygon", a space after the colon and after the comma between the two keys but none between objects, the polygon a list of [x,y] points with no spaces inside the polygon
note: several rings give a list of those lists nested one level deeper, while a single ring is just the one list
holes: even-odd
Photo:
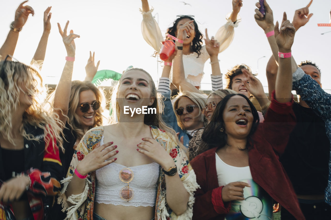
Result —
[{"label": "cream floral kimono with fringe worn over white crop top", "polygon": [[[179,148],[179,146],[166,134],[164,130],[161,130],[155,126],[150,126],[153,138],[157,140],[164,149],[173,158],[178,175],[183,182],[186,191],[189,193],[189,200],[187,203],[186,211],[177,216],[166,204],[166,184],[164,172],[160,169],[160,176],[158,180],[157,198],[155,204],[155,219],[157,220],[169,220],[169,219],[182,219],[187,220],[192,218],[194,192],[199,187],[196,182],[195,173],[188,162],[186,154]],[[103,135],[104,127],[96,127],[89,130],[80,143],[78,144],[76,151],[73,155],[71,165],[69,167],[67,178],[62,181],[64,187],[59,196],[58,203],[62,202],[63,211],[67,210],[68,215],[66,219],[93,219],[93,208],[96,190],[96,172],[93,171],[88,174],[86,178],[85,189],[81,194],[71,195],[66,198],[65,192],[68,184],[71,181],[74,170],[85,155],[91,152],[97,144],[100,142]],[[74,204],[69,206],[68,202]]]}]

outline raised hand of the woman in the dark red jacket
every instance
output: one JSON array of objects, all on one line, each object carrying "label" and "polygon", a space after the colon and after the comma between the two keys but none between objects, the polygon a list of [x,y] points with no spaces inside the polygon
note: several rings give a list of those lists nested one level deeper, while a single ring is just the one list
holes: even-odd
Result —
[{"label": "raised hand of the woman in the dark red jacket", "polygon": [[278,21],[275,25],[275,39],[278,46],[278,51],[282,53],[289,53],[291,52],[292,44],[294,41],[295,35],[295,28],[293,24],[287,20],[286,12],[283,14],[283,21],[278,29]]}]

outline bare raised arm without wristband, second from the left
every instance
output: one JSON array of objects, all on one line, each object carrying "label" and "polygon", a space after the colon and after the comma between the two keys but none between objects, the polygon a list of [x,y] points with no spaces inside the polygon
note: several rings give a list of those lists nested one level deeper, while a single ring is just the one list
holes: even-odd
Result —
[{"label": "bare raised arm without wristband, second from the left", "polygon": [[[50,13],[52,6],[48,7],[46,11],[44,12],[44,31],[41,35],[38,47],[36,52],[33,55],[33,58],[31,60],[31,63],[35,61],[42,60],[44,61],[45,59],[45,54],[46,54],[46,48],[47,48],[47,42],[48,42],[48,36],[49,33],[51,32],[51,16],[52,13]],[[42,63],[39,64],[39,70],[41,70]]]}]

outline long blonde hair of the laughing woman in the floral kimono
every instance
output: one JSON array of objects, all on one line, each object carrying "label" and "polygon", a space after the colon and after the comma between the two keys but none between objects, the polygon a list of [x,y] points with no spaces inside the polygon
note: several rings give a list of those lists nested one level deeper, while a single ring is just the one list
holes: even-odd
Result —
[{"label": "long blonde hair of the laughing woman in the floral kimono", "polygon": [[183,149],[185,152],[185,147],[179,142],[178,138],[176,138],[176,132],[169,126],[166,125],[166,123],[162,119],[163,109],[164,109],[164,103],[163,103],[163,96],[156,91],[155,83],[151,77],[151,75],[144,69],[140,68],[131,68],[126,70],[121,78],[119,79],[118,84],[113,88],[112,93],[112,99],[111,99],[111,109],[112,109],[112,116],[111,116],[111,123],[116,122],[116,117],[118,121],[120,122],[119,114],[120,114],[120,106],[118,104],[117,98],[118,98],[118,87],[120,83],[122,82],[122,78],[125,75],[126,72],[132,71],[132,70],[140,70],[149,78],[149,84],[151,86],[151,97],[155,97],[155,100],[151,106],[148,106],[148,108],[156,108],[156,114],[145,114],[144,116],[144,124],[156,126],[162,130],[166,131],[166,134],[175,142],[178,144],[178,146]]}]

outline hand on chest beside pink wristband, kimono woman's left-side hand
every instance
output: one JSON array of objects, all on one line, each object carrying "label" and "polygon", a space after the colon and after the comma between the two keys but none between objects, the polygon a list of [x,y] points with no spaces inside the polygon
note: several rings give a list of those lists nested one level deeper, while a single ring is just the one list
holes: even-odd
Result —
[{"label": "hand on chest beside pink wristband, kimono woman's left-side hand", "polygon": [[118,150],[114,151],[117,148],[116,145],[109,147],[112,144],[113,142],[108,142],[100,146],[99,143],[96,148],[85,155],[84,158],[78,163],[76,167],[77,171],[81,175],[85,176],[92,171],[100,169],[116,161],[117,158],[109,160],[111,157],[114,157],[116,154],[118,154]]}]

